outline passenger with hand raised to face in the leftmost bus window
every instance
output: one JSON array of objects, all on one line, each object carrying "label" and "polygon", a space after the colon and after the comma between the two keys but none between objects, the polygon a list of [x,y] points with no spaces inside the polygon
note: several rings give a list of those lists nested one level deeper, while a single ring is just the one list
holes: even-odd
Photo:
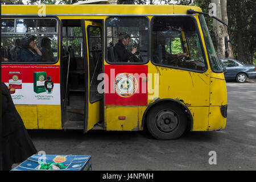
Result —
[{"label": "passenger with hand raised to face in the leftmost bus window", "polygon": [[28,35],[22,38],[22,48],[18,53],[18,60],[22,62],[38,62],[42,59],[42,52],[36,46],[36,37]]}]

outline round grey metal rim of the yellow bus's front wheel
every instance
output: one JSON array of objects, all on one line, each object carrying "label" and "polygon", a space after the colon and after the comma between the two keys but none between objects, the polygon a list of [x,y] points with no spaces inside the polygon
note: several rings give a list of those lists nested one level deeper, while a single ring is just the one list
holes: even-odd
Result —
[{"label": "round grey metal rim of the yellow bus's front wheel", "polygon": [[155,126],[162,133],[171,133],[179,126],[179,117],[174,111],[162,110],[155,117]]}]

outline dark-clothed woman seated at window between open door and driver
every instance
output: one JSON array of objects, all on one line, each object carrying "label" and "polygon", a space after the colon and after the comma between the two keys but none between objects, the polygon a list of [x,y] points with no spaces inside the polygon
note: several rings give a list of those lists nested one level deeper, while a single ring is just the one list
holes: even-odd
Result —
[{"label": "dark-clothed woman seated at window between open door and driver", "polygon": [[116,62],[128,62],[129,58],[137,52],[137,47],[134,47],[130,52],[127,50],[128,44],[130,42],[130,36],[125,32],[118,33],[118,43],[114,46],[115,61]]}]

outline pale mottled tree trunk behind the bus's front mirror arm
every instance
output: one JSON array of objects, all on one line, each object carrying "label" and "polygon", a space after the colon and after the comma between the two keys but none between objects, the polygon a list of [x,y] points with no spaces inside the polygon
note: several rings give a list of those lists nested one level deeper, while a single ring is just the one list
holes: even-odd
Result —
[{"label": "pale mottled tree trunk behind the bus's front mirror arm", "polygon": [[[226,24],[228,24],[228,15],[226,13],[226,0],[211,0],[211,2],[216,4],[217,18],[223,20]],[[227,50],[225,49],[225,36],[230,39],[228,34],[228,27],[213,19],[213,30],[217,43],[216,46],[218,58],[233,58],[233,50],[231,44],[229,44],[229,48]]]}]

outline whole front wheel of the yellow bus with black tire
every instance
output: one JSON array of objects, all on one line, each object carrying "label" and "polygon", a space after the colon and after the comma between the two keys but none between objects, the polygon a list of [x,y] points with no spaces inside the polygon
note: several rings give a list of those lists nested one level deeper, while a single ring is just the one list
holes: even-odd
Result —
[{"label": "whole front wheel of the yellow bus with black tire", "polygon": [[175,103],[163,103],[150,109],[147,114],[147,129],[159,140],[179,138],[187,128],[187,113]]}]

